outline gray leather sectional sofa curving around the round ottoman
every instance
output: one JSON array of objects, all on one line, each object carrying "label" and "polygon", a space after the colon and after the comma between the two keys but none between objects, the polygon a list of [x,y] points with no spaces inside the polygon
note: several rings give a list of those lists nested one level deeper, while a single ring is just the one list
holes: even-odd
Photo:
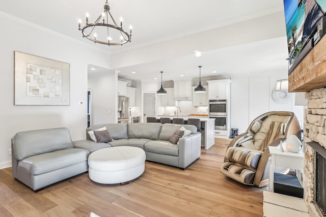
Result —
[{"label": "gray leather sectional sofa curving around the round ottoman", "polygon": [[[169,141],[181,127],[191,130],[178,144]],[[91,140],[88,131],[106,127],[111,142]],[[173,123],[109,123],[86,129],[86,140],[72,141],[67,128],[18,132],[12,138],[12,174],[34,191],[88,171],[91,152],[112,146],[136,146],[146,160],[185,169],[200,157],[201,134],[192,125]]]}]

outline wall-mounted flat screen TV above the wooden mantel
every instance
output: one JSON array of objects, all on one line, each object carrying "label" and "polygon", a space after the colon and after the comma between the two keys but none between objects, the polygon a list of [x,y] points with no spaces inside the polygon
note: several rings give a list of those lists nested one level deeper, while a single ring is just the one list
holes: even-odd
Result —
[{"label": "wall-mounted flat screen TV above the wooden mantel", "polygon": [[315,45],[317,23],[325,14],[326,0],[283,0],[290,74]]}]

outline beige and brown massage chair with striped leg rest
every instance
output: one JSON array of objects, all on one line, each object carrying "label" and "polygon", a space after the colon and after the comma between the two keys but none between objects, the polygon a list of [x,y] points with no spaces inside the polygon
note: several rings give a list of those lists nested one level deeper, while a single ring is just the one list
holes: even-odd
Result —
[{"label": "beige and brown massage chair with striped leg rest", "polygon": [[243,184],[264,187],[268,184],[268,146],[277,146],[293,134],[301,139],[300,125],[293,112],[260,115],[246,132],[230,142],[220,171]]}]

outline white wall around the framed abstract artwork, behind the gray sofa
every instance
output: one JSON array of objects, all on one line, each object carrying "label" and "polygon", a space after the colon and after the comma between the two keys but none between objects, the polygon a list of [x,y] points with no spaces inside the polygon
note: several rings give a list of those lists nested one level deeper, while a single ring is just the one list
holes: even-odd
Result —
[{"label": "white wall around the framed abstract artwork, behind the gray sofa", "polygon": [[[87,66],[93,64],[110,68],[110,57],[107,52],[92,49],[86,43],[76,42],[44,27],[2,13],[0,25],[8,30],[0,40],[0,168],[4,168],[11,166],[8,149],[16,132],[67,127],[73,140],[86,137]],[[70,106],[14,105],[15,50],[70,64]],[[110,98],[108,96],[109,101]],[[78,105],[78,101],[84,102],[83,105]]]}]

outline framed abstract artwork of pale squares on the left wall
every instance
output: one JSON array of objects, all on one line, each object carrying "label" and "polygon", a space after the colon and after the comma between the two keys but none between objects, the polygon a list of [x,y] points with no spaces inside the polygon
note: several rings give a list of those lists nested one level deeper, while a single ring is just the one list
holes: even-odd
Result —
[{"label": "framed abstract artwork of pale squares on the left wall", "polygon": [[70,65],[15,51],[14,105],[70,105]]}]

